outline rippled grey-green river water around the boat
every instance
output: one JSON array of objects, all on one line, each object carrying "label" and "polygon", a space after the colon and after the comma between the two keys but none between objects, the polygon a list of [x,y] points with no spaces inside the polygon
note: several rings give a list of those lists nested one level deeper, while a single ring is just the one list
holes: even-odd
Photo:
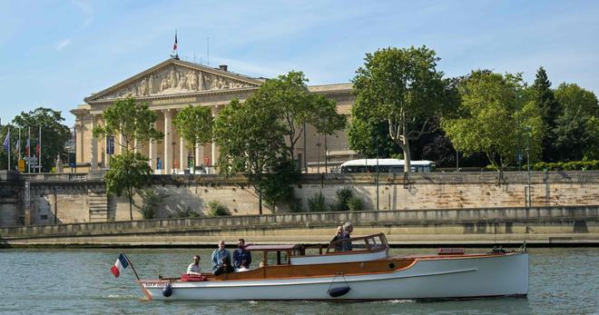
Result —
[{"label": "rippled grey-green river water around the boat", "polygon": [[[478,250],[485,251],[485,250]],[[0,250],[0,312],[22,314],[599,314],[599,249],[529,249],[527,299],[376,302],[148,301],[131,268],[110,272],[119,250]],[[207,249],[126,251],[142,278],[178,276]],[[393,249],[392,254],[434,252]],[[466,249],[466,252],[476,250]],[[254,259],[254,261],[257,261]],[[458,283],[456,285],[459,285]]]}]

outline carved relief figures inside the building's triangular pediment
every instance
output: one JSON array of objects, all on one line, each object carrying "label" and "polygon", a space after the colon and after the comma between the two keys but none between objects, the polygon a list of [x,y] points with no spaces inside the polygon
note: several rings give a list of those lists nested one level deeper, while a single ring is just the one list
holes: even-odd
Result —
[{"label": "carved relief figures inside the building's triangular pediment", "polygon": [[98,100],[152,95],[184,94],[199,91],[240,89],[253,87],[241,80],[235,80],[198,69],[169,65],[158,71],[146,74],[136,81],[126,84],[116,91],[104,94]]}]

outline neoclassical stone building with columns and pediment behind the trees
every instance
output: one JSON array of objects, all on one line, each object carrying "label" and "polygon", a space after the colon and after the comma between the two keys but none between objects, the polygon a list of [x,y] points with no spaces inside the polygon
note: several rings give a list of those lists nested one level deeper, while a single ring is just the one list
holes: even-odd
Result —
[{"label": "neoclassical stone building with columns and pediment behind the trees", "polygon": [[[182,172],[188,169],[188,157],[192,154],[172,125],[177,112],[191,104],[210,106],[212,114],[217,116],[221,108],[231,100],[237,98],[244,102],[264,81],[264,78],[235,74],[228,70],[227,65],[212,68],[172,58],[92,94],[84,99],[85,103],[71,111],[76,117],[75,151],[78,171],[110,167],[111,150],[107,150],[110,141],[93,138],[91,131],[95,125],[102,123],[103,111],[116,100],[133,96],[138,101],[149,104],[150,109],[158,116],[156,128],[164,133],[164,139],[162,142],[138,143],[139,150],[149,157],[154,170],[157,169],[158,159],[162,161],[162,171],[157,172]],[[351,87],[351,84],[312,85],[309,86],[309,91],[324,94],[336,101],[338,112],[349,116],[355,99]],[[198,164],[206,167],[209,172],[217,171],[211,167],[219,154],[215,143],[195,150]],[[113,151],[115,154],[120,153],[119,146],[115,145]],[[317,133],[312,126],[307,126],[295,151],[300,165],[308,172],[325,172],[325,165],[330,170],[355,156],[349,150],[345,130],[325,136]]]}]

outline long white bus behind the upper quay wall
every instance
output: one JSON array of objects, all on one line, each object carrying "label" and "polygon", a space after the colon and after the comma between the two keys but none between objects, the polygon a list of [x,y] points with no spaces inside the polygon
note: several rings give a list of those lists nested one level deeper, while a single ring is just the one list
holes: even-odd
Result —
[{"label": "long white bus behind the upper quay wall", "polygon": [[[432,172],[435,162],[412,161],[412,172]],[[351,160],[341,164],[341,172],[377,172],[377,159]],[[378,159],[378,172],[404,172],[404,160]]]}]

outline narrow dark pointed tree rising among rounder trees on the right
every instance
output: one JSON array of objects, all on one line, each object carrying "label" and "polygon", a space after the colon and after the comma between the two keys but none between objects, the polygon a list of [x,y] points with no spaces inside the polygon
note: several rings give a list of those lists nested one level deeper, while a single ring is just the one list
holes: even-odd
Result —
[{"label": "narrow dark pointed tree rising among rounder trees on the right", "polygon": [[536,72],[535,84],[531,86],[533,97],[541,114],[543,123],[545,123],[545,136],[543,137],[543,161],[555,162],[558,154],[555,153],[553,143],[555,143],[555,120],[560,113],[559,103],[555,100],[554,91],[551,89],[551,82],[547,78],[547,73],[543,67]]}]

